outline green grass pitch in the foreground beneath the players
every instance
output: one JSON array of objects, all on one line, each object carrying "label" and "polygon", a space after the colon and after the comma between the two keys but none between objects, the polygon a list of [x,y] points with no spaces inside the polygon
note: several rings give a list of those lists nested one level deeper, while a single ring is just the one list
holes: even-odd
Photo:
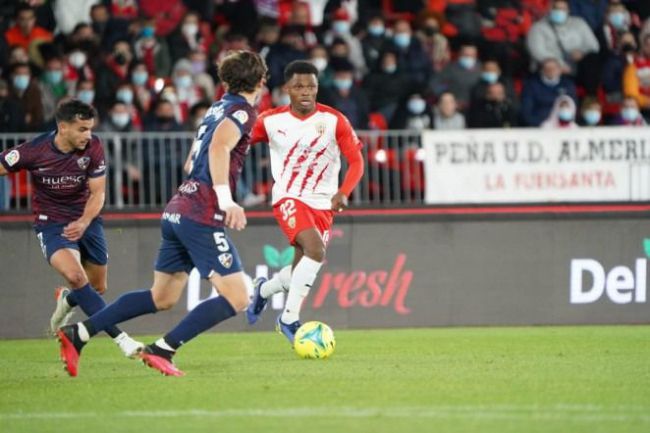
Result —
[{"label": "green grass pitch in the foreground beneath the players", "polygon": [[183,378],[106,338],[77,378],[54,340],[0,341],[0,431],[650,431],[648,326],[335,333],[324,361],[277,334],[201,336]]}]

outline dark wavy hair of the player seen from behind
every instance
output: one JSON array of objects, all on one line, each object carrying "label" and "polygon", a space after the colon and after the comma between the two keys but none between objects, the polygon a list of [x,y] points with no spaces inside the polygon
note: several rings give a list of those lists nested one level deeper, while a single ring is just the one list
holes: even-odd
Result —
[{"label": "dark wavy hair of the player seen from behind", "polygon": [[266,76],[264,59],[252,51],[233,51],[219,63],[219,79],[226,83],[228,92],[253,92]]}]

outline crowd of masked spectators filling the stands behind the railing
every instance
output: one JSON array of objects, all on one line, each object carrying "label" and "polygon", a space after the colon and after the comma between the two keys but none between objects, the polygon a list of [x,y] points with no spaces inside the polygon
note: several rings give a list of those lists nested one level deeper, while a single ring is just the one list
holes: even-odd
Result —
[{"label": "crowd of masked spectators filling the stands behind the railing", "polygon": [[0,130],[54,126],[66,96],[99,131],[193,130],[216,63],[260,52],[260,109],[310,59],[319,99],[358,129],[643,125],[650,2],[625,0],[0,1]]}]

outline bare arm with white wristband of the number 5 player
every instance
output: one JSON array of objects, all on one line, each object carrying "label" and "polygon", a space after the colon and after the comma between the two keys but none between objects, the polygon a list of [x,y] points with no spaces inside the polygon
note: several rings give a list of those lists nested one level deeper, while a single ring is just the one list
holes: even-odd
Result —
[{"label": "bare arm with white wristband of the number 5 player", "polygon": [[230,168],[230,151],[234,149],[241,138],[241,132],[230,119],[224,119],[212,135],[210,142],[210,177],[219,207],[226,213],[226,227],[243,230],[246,227],[244,208],[235,203],[230,191],[228,174]]}]

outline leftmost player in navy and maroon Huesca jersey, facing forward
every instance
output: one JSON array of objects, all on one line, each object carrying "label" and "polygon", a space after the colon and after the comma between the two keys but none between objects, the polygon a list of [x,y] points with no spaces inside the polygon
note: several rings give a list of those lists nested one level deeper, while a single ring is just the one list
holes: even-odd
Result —
[{"label": "leftmost player in navy and maroon Huesca jersey, facing forward", "polygon": [[[108,253],[99,213],[104,206],[104,148],[91,131],[95,109],[79,100],[59,104],[57,129],[0,153],[0,175],[28,170],[33,179],[34,230],[48,263],[72,290],[59,288],[52,331],[79,305],[86,315],[101,310]],[[125,355],[143,347],[116,327],[105,331]]]}]

